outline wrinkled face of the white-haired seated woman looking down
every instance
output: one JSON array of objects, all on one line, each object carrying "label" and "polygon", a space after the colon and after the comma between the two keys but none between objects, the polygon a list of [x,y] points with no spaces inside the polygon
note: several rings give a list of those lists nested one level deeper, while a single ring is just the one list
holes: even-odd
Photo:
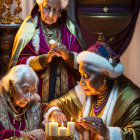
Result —
[{"label": "wrinkled face of the white-haired seated woman looking down", "polygon": [[24,74],[22,80],[13,85],[13,102],[16,106],[25,107],[36,90],[36,79],[31,74]]}]

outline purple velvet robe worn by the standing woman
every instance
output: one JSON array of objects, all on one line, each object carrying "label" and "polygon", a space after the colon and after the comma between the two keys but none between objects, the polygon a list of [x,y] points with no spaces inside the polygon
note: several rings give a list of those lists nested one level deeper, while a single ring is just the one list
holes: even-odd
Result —
[{"label": "purple velvet robe worn by the standing woman", "polygon": [[[45,41],[45,37],[43,35],[39,22],[38,22],[37,28],[38,27],[40,29],[39,54],[35,52],[35,49],[31,40],[21,51],[17,64],[26,64],[26,61],[28,60],[29,57],[43,55],[49,52],[50,47],[47,45]],[[58,33],[57,33],[57,36],[58,36]],[[76,37],[70,33],[70,31],[66,27],[66,24],[64,23],[61,25],[61,41],[62,41],[62,44],[64,44],[67,47],[67,49],[71,52],[80,53],[82,51],[82,48],[80,44],[78,43]],[[68,75],[68,88],[71,89],[74,87],[74,85],[72,85],[72,76],[71,76],[72,70],[67,65],[66,65],[66,68],[67,68],[67,75]],[[39,92],[38,93],[40,96],[42,96],[43,79],[41,79],[41,71],[38,72],[38,75],[39,75]]]}]

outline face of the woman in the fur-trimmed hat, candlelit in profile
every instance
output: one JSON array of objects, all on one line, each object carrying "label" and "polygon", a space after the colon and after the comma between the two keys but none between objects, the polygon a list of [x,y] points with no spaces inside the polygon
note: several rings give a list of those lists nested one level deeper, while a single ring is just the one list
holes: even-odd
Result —
[{"label": "face of the woman in the fur-trimmed hat, candlelit in profile", "polygon": [[103,85],[105,75],[101,72],[97,72],[96,69],[93,69],[94,67],[91,64],[80,63],[80,84],[84,88],[87,95],[99,95],[102,92],[100,89]]}]

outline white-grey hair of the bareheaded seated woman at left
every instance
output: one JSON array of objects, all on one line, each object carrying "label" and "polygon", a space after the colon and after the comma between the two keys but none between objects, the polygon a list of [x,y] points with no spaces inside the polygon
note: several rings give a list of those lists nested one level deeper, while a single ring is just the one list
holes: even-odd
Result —
[{"label": "white-grey hair of the bareheaded seated woman at left", "polygon": [[34,76],[36,79],[36,85],[38,85],[39,80],[34,70],[30,66],[22,64],[11,68],[9,72],[2,78],[0,81],[0,92],[2,92],[2,89],[8,92],[10,90],[9,81],[11,80],[13,84],[20,82],[22,76],[25,73],[29,73],[30,75]]}]

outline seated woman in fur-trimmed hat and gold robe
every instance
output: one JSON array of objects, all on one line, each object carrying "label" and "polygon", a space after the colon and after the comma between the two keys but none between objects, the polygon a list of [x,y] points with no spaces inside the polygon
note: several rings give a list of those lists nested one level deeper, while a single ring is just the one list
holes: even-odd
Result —
[{"label": "seated woman in fur-trimmed hat and gold robe", "polygon": [[50,102],[46,119],[61,123],[73,117],[79,139],[139,140],[140,89],[122,75],[119,56],[96,43],[77,60],[80,85]]}]

